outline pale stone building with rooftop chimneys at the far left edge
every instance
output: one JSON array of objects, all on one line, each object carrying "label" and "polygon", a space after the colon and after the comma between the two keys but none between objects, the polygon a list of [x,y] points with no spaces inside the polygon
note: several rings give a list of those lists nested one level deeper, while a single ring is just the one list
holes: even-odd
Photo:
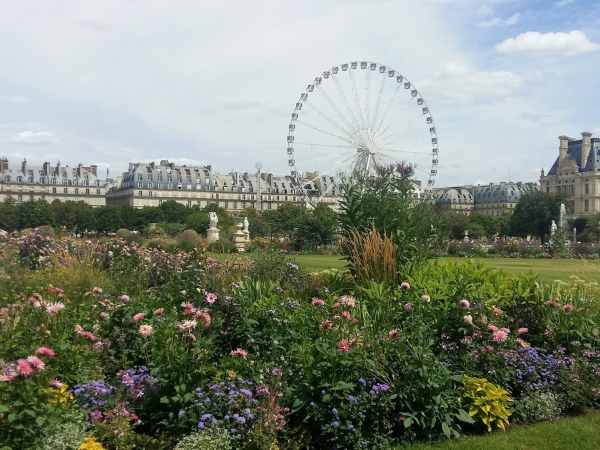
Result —
[{"label": "pale stone building with rooftop chimneys at the far left edge", "polygon": [[98,178],[95,165],[75,167],[55,166],[45,162],[41,166],[13,164],[0,158],[0,201],[7,197],[18,203],[27,200],[80,201],[93,207],[106,204],[106,181]]}]

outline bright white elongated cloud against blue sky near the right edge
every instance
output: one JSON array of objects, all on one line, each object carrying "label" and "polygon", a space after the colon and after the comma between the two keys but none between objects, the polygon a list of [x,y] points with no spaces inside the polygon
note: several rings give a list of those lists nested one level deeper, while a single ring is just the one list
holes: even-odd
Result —
[{"label": "bright white elongated cloud against blue sky near the right edge", "polygon": [[576,55],[600,50],[600,45],[591,42],[579,30],[573,30],[569,33],[543,34],[537,31],[528,31],[516,38],[506,39],[496,45],[496,50],[503,53],[527,52]]}]

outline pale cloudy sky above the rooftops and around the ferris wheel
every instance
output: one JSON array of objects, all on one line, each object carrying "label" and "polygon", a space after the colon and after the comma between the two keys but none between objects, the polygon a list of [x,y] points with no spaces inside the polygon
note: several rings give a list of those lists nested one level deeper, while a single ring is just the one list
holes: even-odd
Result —
[{"label": "pale cloudy sky above the rooftops and around the ferris wheel", "polygon": [[0,156],[289,173],[291,113],[349,61],[404,74],[436,186],[537,181],[600,137],[600,0],[0,0]]}]

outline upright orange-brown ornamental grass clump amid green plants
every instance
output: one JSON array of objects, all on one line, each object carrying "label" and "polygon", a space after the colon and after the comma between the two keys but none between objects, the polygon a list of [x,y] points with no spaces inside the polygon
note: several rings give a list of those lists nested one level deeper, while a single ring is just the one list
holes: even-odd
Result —
[{"label": "upright orange-brown ornamental grass clump amid green plants", "polygon": [[352,275],[359,281],[373,280],[389,285],[396,282],[396,247],[388,236],[381,236],[374,226],[371,230],[350,230],[348,236],[341,239],[340,245],[348,255]]}]

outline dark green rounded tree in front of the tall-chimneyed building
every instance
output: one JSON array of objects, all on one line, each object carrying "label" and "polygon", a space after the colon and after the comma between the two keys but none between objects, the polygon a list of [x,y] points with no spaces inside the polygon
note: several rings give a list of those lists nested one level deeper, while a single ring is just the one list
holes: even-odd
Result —
[{"label": "dark green rounded tree in front of the tall-chimneyed building", "polygon": [[546,242],[552,221],[558,223],[560,205],[566,198],[565,193],[528,192],[521,197],[510,218],[510,234],[537,236]]}]

